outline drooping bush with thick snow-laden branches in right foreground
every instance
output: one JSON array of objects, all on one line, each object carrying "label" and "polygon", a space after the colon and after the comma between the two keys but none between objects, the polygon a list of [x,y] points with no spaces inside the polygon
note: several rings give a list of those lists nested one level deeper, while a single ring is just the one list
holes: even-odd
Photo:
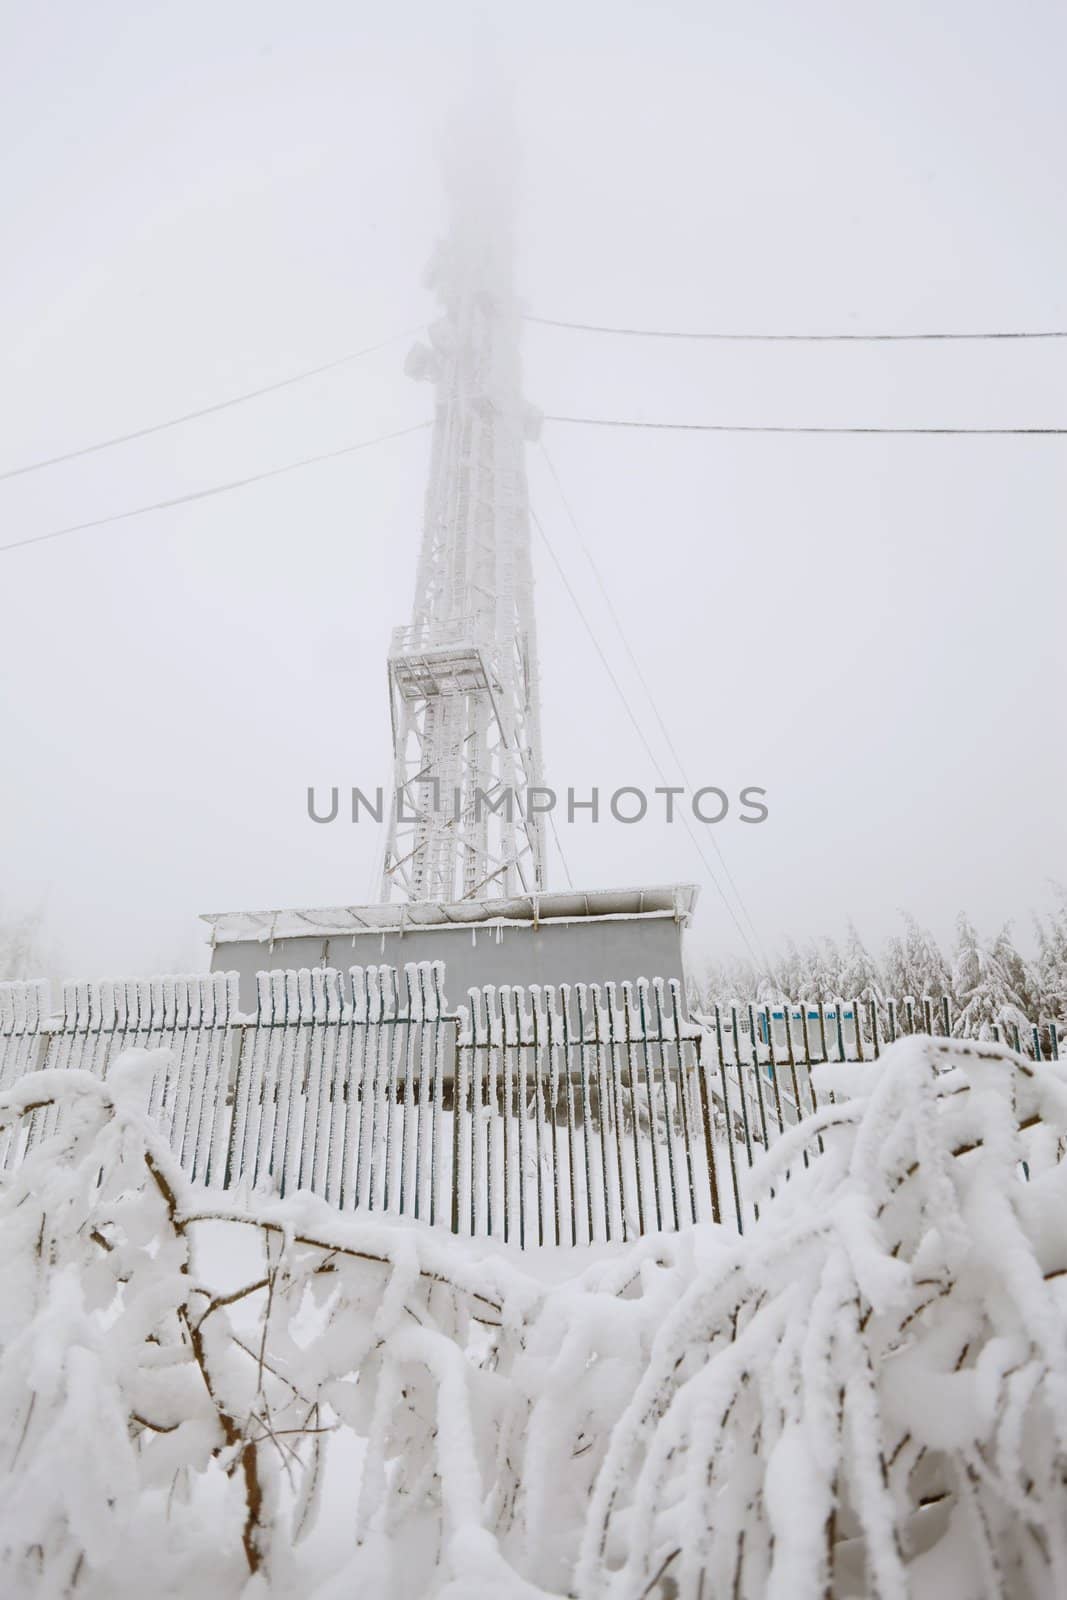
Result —
[{"label": "drooping bush with thick snow-laden branches in right foreground", "polygon": [[[1053,1600],[1067,1262],[1037,1218],[1062,1205],[1064,1078],[925,1038],[817,1077],[857,1098],[824,1109],[806,1171],[814,1120],[765,1158],[747,1250],[667,1312],[597,1478],[576,1592]],[[1045,1162],[1025,1187],[1030,1117]]]}]

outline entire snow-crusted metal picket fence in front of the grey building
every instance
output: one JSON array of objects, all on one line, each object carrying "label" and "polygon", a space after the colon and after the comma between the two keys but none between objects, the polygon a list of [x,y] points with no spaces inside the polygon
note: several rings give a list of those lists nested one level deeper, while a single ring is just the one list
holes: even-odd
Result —
[{"label": "entire snow-crusted metal picket fence in front of the grey building", "polygon": [[[947,1002],[731,1003],[688,1018],[677,982],[472,989],[450,1013],[437,966],[237,979],[0,984],[0,1091],[27,1072],[98,1077],[166,1050],[149,1112],[195,1182],[392,1211],[522,1246],[621,1242],[757,1208],[742,1171],[819,1110],[813,1067],[950,1034]],[[1041,1059],[1054,1029],[1005,1027]],[[56,1106],[0,1139],[10,1168]],[[803,1150],[805,1165],[821,1139]]]}]

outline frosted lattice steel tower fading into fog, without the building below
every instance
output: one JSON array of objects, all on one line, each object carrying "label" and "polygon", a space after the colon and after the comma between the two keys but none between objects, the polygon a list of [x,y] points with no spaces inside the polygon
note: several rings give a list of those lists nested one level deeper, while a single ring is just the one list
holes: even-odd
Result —
[{"label": "frosted lattice steel tower fading into fog, without the building below", "polygon": [[544,886],[537,645],[512,283],[510,139],[454,138],[450,226],[429,272],[443,315],[408,357],[435,389],[410,627],[389,650],[395,789],[382,899],[462,901]]}]

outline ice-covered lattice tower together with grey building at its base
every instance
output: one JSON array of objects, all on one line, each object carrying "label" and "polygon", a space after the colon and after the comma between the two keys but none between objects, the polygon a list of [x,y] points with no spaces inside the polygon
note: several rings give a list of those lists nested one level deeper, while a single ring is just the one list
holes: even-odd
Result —
[{"label": "ice-covered lattice tower together with grey building at its base", "polygon": [[[545,886],[537,643],[512,278],[515,139],[475,91],[445,150],[440,317],[408,357],[435,414],[414,605],[389,646],[395,789],[373,904],[216,912],[213,966],[240,974],[443,962],[453,1003],[485,984],[681,978],[693,885]],[[382,797],[384,798],[384,797]],[[395,800],[395,795],[392,797]],[[342,888],[344,893],[344,888]]]}]

